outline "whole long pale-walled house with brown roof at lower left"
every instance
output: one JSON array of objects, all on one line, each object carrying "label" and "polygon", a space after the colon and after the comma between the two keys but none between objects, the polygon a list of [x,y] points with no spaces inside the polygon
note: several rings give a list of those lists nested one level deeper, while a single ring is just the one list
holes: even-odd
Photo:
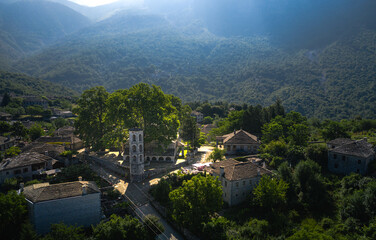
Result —
[{"label": "whole long pale-walled house with brown roof at lower left", "polygon": [[48,233],[51,224],[90,227],[100,222],[100,191],[94,182],[34,184],[25,187],[23,194],[38,234]]}]

